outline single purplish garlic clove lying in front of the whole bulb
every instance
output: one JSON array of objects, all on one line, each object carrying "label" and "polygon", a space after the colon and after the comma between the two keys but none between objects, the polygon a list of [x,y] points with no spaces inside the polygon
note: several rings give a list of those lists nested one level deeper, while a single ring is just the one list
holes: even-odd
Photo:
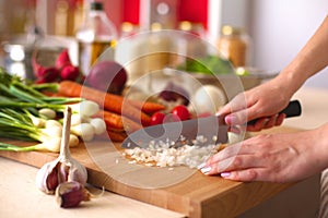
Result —
[{"label": "single purplish garlic clove lying in front of the whole bulb", "polygon": [[90,192],[79,182],[60,183],[56,189],[56,201],[60,207],[75,207],[91,199]]}]

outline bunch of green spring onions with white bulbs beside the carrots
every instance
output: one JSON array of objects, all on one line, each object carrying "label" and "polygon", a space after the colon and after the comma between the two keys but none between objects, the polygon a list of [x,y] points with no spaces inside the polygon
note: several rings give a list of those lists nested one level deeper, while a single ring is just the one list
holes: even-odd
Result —
[{"label": "bunch of green spring onions with white bulbs beside the carrots", "polygon": [[0,136],[39,142],[28,147],[1,143],[0,150],[59,152],[62,112],[67,105],[75,117],[70,129],[70,146],[77,146],[79,138],[91,141],[106,131],[105,122],[93,117],[99,110],[97,104],[80,97],[46,96],[26,81],[0,69]]}]

